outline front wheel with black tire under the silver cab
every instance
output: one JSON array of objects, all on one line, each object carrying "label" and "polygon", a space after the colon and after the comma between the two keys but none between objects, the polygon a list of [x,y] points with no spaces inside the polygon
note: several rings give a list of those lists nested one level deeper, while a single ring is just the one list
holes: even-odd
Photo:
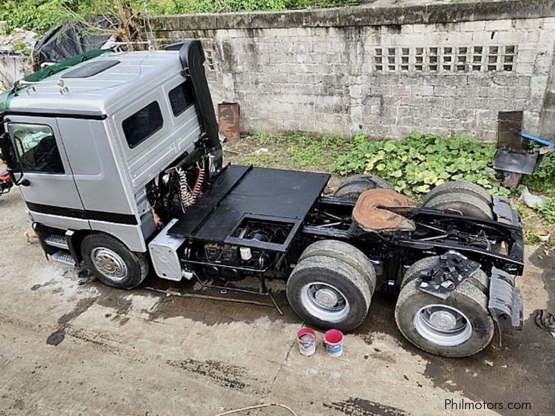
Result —
[{"label": "front wheel with black tire under the silver cab", "polygon": [[85,266],[103,284],[132,289],[148,274],[144,253],[132,252],[121,241],[107,234],[89,234],[81,244]]}]

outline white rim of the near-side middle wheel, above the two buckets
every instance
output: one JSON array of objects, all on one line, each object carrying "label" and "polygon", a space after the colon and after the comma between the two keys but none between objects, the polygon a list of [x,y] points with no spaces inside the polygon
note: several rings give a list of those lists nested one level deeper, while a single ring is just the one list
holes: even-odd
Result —
[{"label": "white rim of the near-side middle wheel, above the two buckets", "polygon": [[343,293],[322,281],[303,286],[300,300],[311,315],[325,322],[339,322],[350,311],[349,302]]}]

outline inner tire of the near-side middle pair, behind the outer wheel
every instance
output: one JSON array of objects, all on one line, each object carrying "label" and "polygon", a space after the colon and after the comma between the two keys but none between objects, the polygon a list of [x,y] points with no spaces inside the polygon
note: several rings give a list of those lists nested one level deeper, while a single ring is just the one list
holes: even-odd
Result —
[{"label": "inner tire of the near-side middle pair, behind the outer wheel", "polygon": [[376,271],[374,265],[368,257],[355,246],[338,240],[316,241],[305,248],[305,251],[302,252],[298,261],[314,256],[333,257],[334,259],[348,263],[366,278],[366,282],[370,287],[370,293],[372,295],[374,294],[376,289]]}]

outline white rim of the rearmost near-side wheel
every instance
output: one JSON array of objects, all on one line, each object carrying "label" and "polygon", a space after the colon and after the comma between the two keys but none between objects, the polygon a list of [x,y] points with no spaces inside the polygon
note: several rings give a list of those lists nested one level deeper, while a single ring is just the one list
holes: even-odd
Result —
[{"label": "white rim of the rearmost near-side wheel", "polygon": [[422,338],[442,347],[461,345],[472,336],[470,320],[451,306],[424,306],[415,313],[413,324]]}]

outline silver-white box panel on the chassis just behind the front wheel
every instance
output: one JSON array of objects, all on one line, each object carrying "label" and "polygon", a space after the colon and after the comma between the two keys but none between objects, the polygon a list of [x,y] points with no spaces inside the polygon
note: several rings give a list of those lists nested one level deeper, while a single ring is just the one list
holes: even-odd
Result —
[{"label": "silver-white box panel on the chassis just behind the front wheel", "polygon": [[177,250],[185,242],[185,239],[176,239],[176,237],[167,234],[176,222],[176,219],[171,220],[160,234],[148,243],[148,252],[151,254],[154,270],[158,277],[180,281],[182,269]]}]

